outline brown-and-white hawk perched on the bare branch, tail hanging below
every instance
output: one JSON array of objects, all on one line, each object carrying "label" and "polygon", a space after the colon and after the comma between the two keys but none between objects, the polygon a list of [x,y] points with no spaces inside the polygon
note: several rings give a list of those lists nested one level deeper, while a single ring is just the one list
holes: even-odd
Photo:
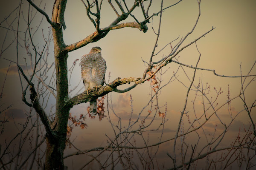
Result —
[{"label": "brown-and-white hawk perched on the bare branch, tail hanging below", "polygon": [[[107,69],[106,61],[102,58],[100,47],[93,47],[89,54],[81,57],[81,77],[84,82],[84,89],[88,91],[98,86],[104,85],[105,73]],[[97,114],[97,99],[90,101],[90,115]]]}]

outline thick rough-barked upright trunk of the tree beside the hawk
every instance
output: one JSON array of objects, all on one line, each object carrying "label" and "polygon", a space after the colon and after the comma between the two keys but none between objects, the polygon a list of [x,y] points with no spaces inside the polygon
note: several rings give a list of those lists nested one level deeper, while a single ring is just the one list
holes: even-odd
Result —
[{"label": "thick rough-barked upright trunk of the tree beside the hawk", "polygon": [[67,136],[67,122],[70,108],[65,107],[68,99],[67,57],[63,52],[66,46],[63,40],[62,27],[64,26],[64,11],[67,0],[55,0],[52,10],[52,21],[57,23],[52,27],[54,41],[54,58],[56,70],[56,111],[55,119],[51,123],[53,136],[46,136],[47,150],[44,163],[45,170],[64,170],[63,152]]}]

